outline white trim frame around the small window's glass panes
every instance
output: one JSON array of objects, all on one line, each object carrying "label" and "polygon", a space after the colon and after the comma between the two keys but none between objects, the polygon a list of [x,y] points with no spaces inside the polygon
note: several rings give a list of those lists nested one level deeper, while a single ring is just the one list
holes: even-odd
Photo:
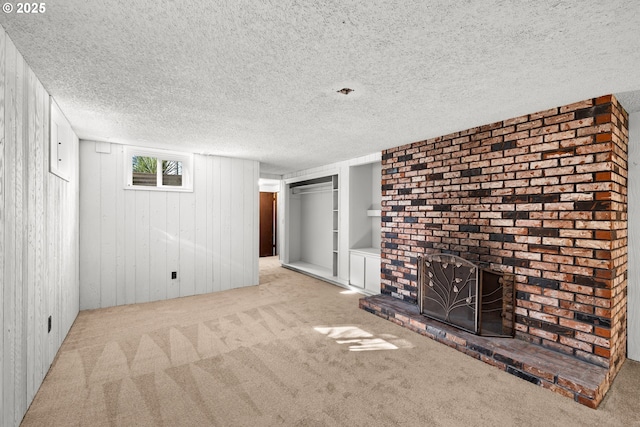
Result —
[{"label": "white trim frame around the small window's glass panes", "polygon": [[[158,184],[153,187],[149,185],[133,185],[133,163],[131,159],[135,156],[155,157],[159,161],[173,160],[182,162],[182,186],[162,185],[162,170],[158,168]],[[179,151],[160,150],[156,148],[144,147],[124,147],[124,189],[125,190],[146,190],[146,191],[178,191],[193,192],[193,154]]]}]

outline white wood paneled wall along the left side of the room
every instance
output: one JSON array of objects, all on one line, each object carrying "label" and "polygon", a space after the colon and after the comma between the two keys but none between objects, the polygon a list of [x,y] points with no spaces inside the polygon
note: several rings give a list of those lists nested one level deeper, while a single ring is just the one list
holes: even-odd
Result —
[{"label": "white wood paneled wall along the left side of the room", "polygon": [[20,424],[78,314],[78,140],[70,180],[49,173],[49,111],[48,93],[0,28],[3,426]]}]

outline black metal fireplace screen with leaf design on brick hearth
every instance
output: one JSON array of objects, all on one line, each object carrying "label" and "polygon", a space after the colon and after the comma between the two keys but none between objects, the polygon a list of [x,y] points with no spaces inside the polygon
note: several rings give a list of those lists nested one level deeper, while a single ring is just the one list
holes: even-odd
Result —
[{"label": "black metal fireplace screen with leaf design on brick hearth", "polygon": [[463,258],[419,258],[420,313],[474,334],[513,336],[514,278],[484,270]]}]

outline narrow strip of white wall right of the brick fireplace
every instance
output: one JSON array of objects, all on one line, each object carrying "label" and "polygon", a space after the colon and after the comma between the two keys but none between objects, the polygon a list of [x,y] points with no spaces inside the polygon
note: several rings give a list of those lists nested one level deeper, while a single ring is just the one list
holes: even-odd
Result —
[{"label": "narrow strip of white wall right of the brick fireplace", "polygon": [[640,361],[640,113],[629,115],[629,274],[627,356]]}]

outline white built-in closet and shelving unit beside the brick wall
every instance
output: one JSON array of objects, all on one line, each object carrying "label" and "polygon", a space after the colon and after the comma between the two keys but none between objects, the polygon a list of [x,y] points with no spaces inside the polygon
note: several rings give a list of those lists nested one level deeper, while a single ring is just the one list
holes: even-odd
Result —
[{"label": "white built-in closet and shelving unit beside the brick wall", "polygon": [[282,265],[380,292],[380,153],[283,177]]}]

